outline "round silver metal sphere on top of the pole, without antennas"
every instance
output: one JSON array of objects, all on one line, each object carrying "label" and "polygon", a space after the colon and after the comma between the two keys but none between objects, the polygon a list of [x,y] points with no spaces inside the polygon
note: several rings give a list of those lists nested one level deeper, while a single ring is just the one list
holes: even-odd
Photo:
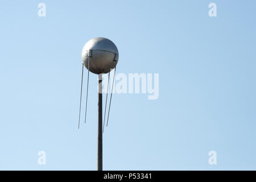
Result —
[{"label": "round silver metal sphere on top of the pole, without antennas", "polygon": [[117,46],[106,38],[91,39],[82,48],[82,63],[87,69],[89,60],[90,72],[96,74],[108,73],[117,65]]}]

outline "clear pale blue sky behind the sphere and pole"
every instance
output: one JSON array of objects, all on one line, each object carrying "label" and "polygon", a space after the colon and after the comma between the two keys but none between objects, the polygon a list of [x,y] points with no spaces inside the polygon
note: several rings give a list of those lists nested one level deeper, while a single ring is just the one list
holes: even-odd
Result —
[{"label": "clear pale blue sky behind the sphere and pole", "polygon": [[[208,16],[211,2],[216,18]],[[158,100],[114,94],[104,169],[255,170],[255,6],[253,0],[1,1],[0,169],[97,169],[94,74],[88,120],[80,130],[77,122],[82,47],[101,36],[118,47],[117,73],[159,73]]]}]

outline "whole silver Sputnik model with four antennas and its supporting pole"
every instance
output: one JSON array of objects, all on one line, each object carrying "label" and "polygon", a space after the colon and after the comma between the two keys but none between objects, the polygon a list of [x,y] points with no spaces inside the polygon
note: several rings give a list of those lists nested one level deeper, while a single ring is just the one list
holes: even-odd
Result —
[{"label": "whole silver Sputnik model with four antennas and its supporting pole", "polygon": [[[89,72],[98,75],[98,171],[102,171],[102,133],[105,126],[105,115],[106,105],[108,100],[108,92],[106,93],[106,104],[104,114],[104,125],[102,130],[102,74],[109,73],[117,67],[118,62],[118,49],[115,44],[106,38],[94,38],[89,40],[82,49],[82,78],[84,75],[84,67],[88,69],[87,74],[87,89],[86,89],[86,105],[85,105],[85,122],[86,122],[86,111],[87,111],[87,100],[88,100],[88,84],[89,84]],[[109,89],[109,76],[108,76],[108,88]],[[109,102],[108,119],[106,126],[109,121],[109,111],[112,100],[112,92],[114,85],[114,77],[112,84],[112,91]],[[80,114],[81,114],[81,98],[82,98],[82,78],[81,78],[81,93],[80,93],[80,109],[79,109],[79,127],[80,127]]]}]

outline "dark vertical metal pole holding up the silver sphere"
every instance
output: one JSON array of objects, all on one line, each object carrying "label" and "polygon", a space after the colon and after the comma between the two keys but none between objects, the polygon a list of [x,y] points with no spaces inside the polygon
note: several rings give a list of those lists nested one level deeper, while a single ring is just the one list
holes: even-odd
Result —
[{"label": "dark vertical metal pole holding up the silver sphere", "polygon": [[102,75],[98,75],[98,171],[102,171]]}]

